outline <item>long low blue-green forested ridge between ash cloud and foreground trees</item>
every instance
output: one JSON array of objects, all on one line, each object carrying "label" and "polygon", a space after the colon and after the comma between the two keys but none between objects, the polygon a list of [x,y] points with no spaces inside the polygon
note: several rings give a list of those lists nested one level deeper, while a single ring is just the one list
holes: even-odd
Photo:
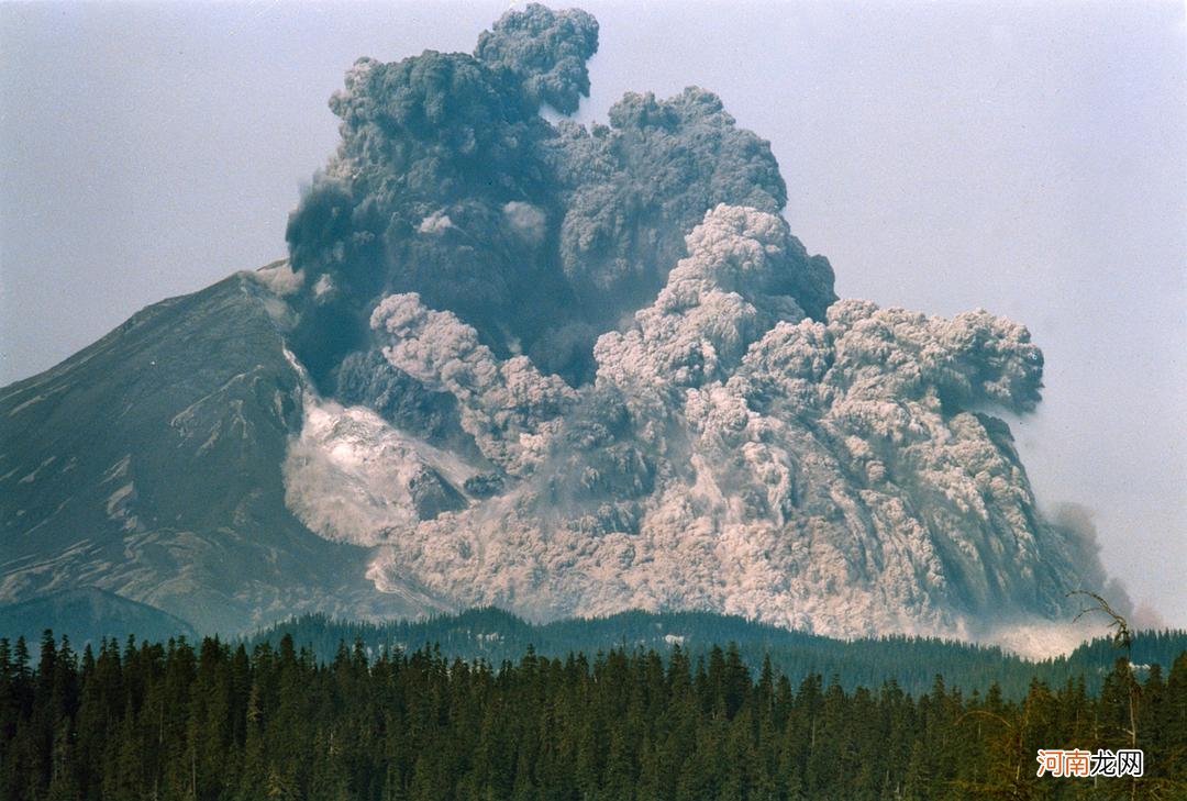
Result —
[{"label": "long low blue-green forested ridge between ash cloud and foreground trees", "polygon": [[[504,660],[518,661],[528,647],[544,656],[565,656],[572,651],[594,655],[620,646],[668,654],[679,644],[696,659],[713,646],[735,642],[748,665],[757,667],[769,655],[775,669],[793,680],[819,673],[826,680],[837,676],[851,691],[893,679],[907,692],[925,693],[941,674],[950,685],[966,692],[984,692],[996,681],[1010,698],[1024,695],[1035,676],[1061,686],[1083,675],[1090,692],[1096,692],[1119,655],[1106,640],[1093,640],[1067,656],[1035,662],[997,647],[903,636],[833,640],[710,612],[631,611],[534,625],[494,608],[389,623],[343,622],[312,615],[266,629],[250,642],[277,646],[285,634],[322,661],[332,660],[339,643],[353,647],[361,641],[373,655],[385,648],[439,646],[446,656],[481,659],[496,667]],[[1148,631],[1135,638],[1132,659],[1135,665],[1157,663],[1167,670],[1185,650],[1187,631]]]}]

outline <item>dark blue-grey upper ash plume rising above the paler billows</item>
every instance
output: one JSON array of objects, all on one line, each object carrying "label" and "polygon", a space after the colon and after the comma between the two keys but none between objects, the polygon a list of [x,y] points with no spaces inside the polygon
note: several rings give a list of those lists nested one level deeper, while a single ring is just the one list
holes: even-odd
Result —
[{"label": "dark blue-grey upper ash plume rising above the paler billows", "polygon": [[[370,311],[406,292],[583,383],[594,339],[654,297],[707,209],[783,206],[769,145],[699,89],[628,95],[610,127],[548,125],[542,103],[571,112],[589,93],[596,49],[592,17],[533,5],[474,56],[354,65],[330,103],[342,145],[287,231],[305,279],[292,341],[323,390],[358,382],[343,361],[374,349]],[[815,265],[819,314],[834,295]]]}]

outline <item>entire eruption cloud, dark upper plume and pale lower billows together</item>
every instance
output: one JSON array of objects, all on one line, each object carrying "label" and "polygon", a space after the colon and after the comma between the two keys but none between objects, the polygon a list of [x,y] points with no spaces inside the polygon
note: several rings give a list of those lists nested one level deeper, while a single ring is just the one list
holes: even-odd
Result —
[{"label": "entire eruption cloud, dark upper plume and pale lower billows together", "polygon": [[971,634],[1067,611],[1099,566],[984,412],[1037,402],[1027,330],[837,301],[768,144],[710,93],[550,125],[596,49],[589,14],[533,5],[472,56],[348,74],[288,225],[320,393],[290,508],[375,547],[382,590],[535,617]]}]

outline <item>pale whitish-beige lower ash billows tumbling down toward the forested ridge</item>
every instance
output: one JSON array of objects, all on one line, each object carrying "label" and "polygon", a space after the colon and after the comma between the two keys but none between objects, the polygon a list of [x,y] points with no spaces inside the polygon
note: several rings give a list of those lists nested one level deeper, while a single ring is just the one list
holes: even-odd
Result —
[{"label": "pale whitish-beige lower ash billows tumbling down toward the forested ridge", "polygon": [[388,363],[457,400],[508,484],[388,538],[376,576],[541,617],[696,606],[839,635],[1059,614],[1077,541],[1041,522],[1004,425],[960,411],[1035,402],[1026,330],[865,301],[806,319],[777,294],[794,247],[775,215],[710,211],[579,393],[386,299]]}]

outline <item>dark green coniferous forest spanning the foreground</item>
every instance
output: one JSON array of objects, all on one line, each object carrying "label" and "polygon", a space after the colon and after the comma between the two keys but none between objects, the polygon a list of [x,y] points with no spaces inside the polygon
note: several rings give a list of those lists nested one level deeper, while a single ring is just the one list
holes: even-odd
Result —
[{"label": "dark green coniferous forest spanning the foreground", "polygon": [[[1183,799],[1187,653],[1099,694],[937,675],[849,692],[737,647],[518,662],[216,638],[76,653],[0,641],[0,797]],[[1134,778],[1036,777],[1036,750],[1141,748]]]}]

